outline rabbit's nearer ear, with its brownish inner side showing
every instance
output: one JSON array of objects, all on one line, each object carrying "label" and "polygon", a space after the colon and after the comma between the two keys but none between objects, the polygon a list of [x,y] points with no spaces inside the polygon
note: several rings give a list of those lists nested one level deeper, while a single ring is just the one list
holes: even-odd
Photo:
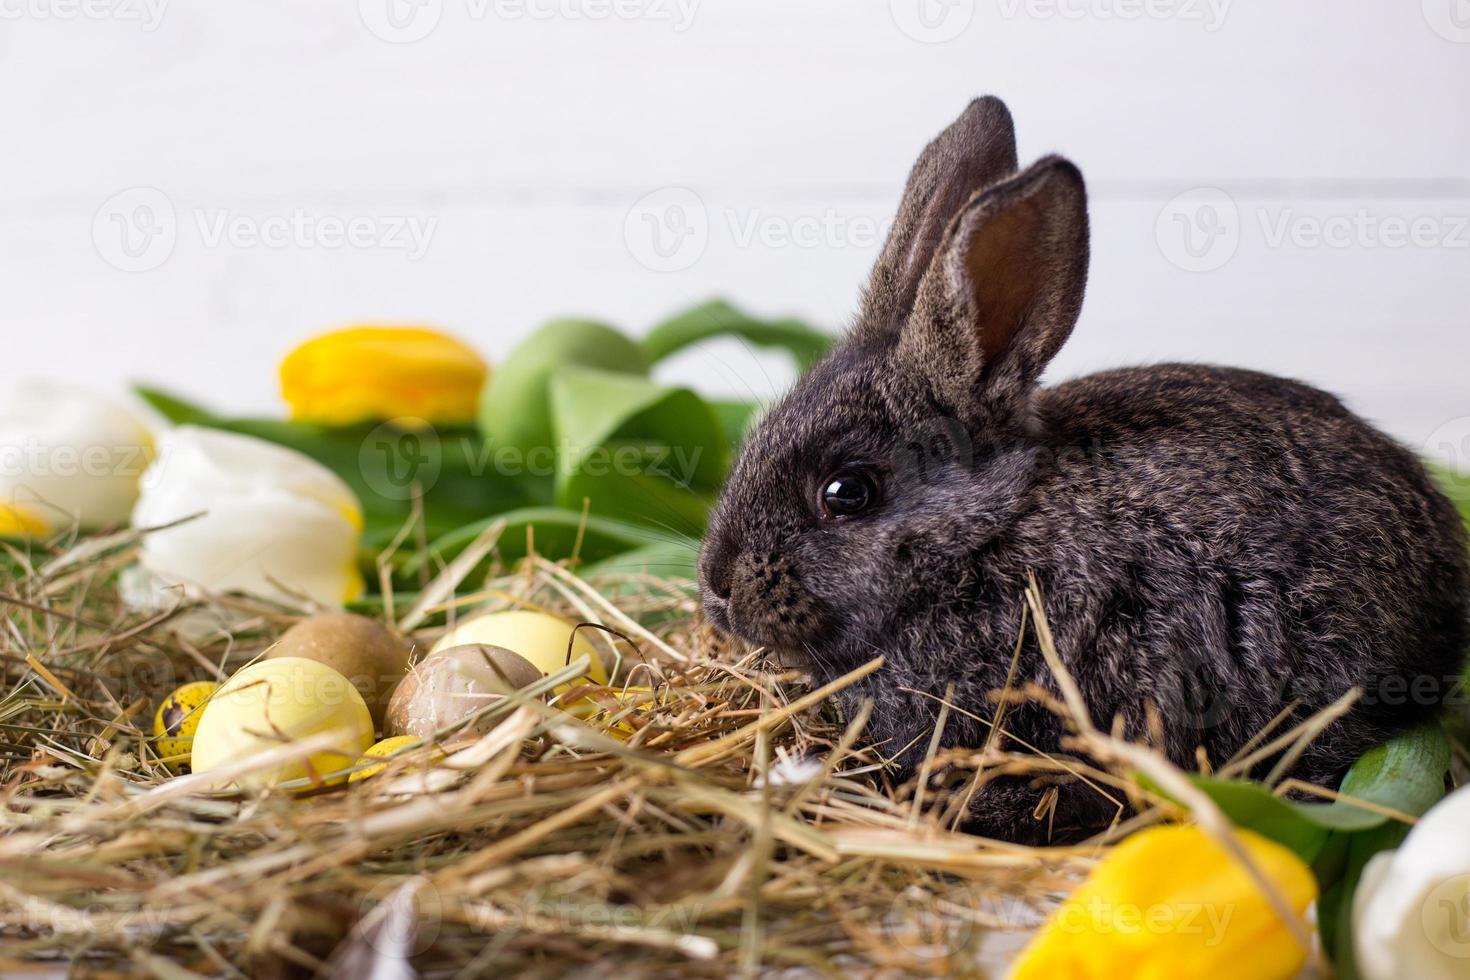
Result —
[{"label": "rabbit's nearer ear, with its brownish inner side showing", "polygon": [[950,222],[900,351],[956,408],[1016,413],[1072,334],[1086,279],[1082,173],[1045,157]]}]

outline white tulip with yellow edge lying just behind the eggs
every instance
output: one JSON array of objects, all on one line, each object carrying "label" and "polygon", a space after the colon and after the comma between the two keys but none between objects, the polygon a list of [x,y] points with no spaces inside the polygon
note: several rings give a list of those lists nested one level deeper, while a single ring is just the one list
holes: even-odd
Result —
[{"label": "white tulip with yellow edge lying just behind the eggs", "polygon": [[166,432],[132,523],[179,520],[143,539],[141,564],[165,586],[325,607],[362,592],[362,507],[335,473],[295,450],[197,426]]}]

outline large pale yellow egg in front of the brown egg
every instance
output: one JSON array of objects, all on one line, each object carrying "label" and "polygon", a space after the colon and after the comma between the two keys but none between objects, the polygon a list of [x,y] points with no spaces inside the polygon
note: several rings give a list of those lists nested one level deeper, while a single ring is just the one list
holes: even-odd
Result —
[{"label": "large pale yellow egg in front of the brown egg", "polygon": [[194,732],[193,767],[209,773],[260,752],[325,732],[331,748],[241,776],[251,788],[291,779],[347,779],[372,745],[372,716],[351,682],[326,664],[304,657],[276,657],[245,667],[215,692]]}]

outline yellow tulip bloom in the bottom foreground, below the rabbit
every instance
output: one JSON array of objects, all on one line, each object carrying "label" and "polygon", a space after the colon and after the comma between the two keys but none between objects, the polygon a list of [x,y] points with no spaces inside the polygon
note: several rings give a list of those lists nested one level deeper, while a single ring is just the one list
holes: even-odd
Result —
[{"label": "yellow tulip bloom in the bottom foreground, below the rabbit", "polygon": [[[1317,898],[1295,854],[1236,832],[1301,920]],[[1200,827],[1152,827],[1113,848],[1022,952],[1011,980],[1294,977],[1307,951],[1250,873]]]}]

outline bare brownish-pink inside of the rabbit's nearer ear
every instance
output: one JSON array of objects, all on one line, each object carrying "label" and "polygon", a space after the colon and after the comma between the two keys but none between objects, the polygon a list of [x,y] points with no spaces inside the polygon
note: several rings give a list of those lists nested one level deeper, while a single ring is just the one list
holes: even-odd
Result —
[{"label": "bare brownish-pink inside of the rabbit's nearer ear", "polygon": [[985,219],[964,253],[976,339],[985,361],[1016,339],[1041,292],[1041,206],[1019,201]]}]

